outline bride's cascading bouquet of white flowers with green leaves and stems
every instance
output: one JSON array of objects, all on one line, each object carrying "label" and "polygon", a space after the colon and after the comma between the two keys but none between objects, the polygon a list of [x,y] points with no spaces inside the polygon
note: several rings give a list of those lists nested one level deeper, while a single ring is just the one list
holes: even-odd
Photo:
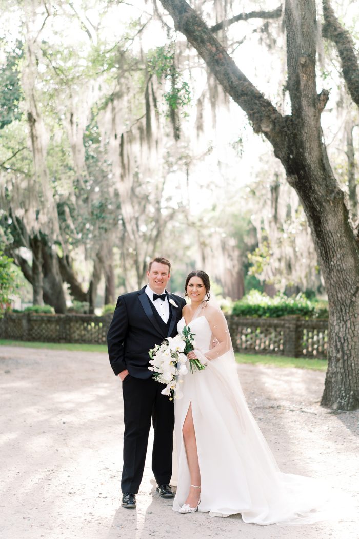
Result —
[{"label": "bride's cascading bouquet of white flowers with green leaves and stems", "polygon": [[[180,390],[182,382],[180,377],[188,373],[186,354],[194,349],[194,336],[195,333],[191,333],[191,329],[185,326],[182,334],[167,337],[149,351],[151,357],[149,370],[153,372],[153,378],[157,382],[166,384],[161,393],[170,397],[170,400],[180,399],[183,396]],[[204,368],[205,364],[200,360],[189,360],[191,372]]]}]

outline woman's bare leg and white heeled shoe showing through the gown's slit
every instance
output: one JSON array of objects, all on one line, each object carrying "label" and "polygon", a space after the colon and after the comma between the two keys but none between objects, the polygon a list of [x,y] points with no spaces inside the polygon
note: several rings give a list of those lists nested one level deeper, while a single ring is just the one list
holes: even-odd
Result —
[{"label": "woman's bare leg and white heeled shoe showing through the gown's slit", "polygon": [[[189,475],[191,477],[191,483],[192,485],[200,486],[201,475],[198,462],[196,434],[194,431],[192,417],[192,403],[189,404],[187,416],[182,426],[182,435],[186,447],[187,462],[189,468]],[[185,503],[189,503],[190,507],[195,507],[198,504],[200,493],[200,488],[189,487],[189,493]]]}]

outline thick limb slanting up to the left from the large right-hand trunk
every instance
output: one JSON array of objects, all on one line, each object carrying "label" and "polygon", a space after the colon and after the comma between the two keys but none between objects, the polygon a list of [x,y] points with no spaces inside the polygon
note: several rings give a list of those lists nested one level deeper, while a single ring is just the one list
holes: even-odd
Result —
[{"label": "thick limb slanting up to the left from the large right-hand trunk", "polygon": [[160,2],[173,18],[175,28],[182,32],[198,51],[224,91],[247,113],[255,133],[263,133],[276,150],[283,150],[283,116],[240,71],[198,13],[186,0]]}]

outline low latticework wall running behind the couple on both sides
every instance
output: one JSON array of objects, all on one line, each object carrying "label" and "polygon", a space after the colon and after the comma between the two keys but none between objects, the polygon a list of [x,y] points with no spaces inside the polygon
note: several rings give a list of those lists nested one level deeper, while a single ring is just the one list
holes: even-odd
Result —
[{"label": "low latticework wall running behind the couple on both sides", "polygon": [[[105,344],[112,314],[6,313],[0,338],[15,341]],[[276,319],[227,317],[235,352],[325,358],[328,321],[297,316]]]}]

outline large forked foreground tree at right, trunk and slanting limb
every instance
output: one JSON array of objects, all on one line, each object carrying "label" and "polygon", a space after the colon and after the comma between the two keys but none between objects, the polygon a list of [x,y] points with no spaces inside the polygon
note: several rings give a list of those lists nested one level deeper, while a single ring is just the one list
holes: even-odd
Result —
[{"label": "large forked foreground tree at right, trunk and slanting limb", "polygon": [[[318,93],[316,88],[319,28],[315,1],[285,2],[287,91],[292,109],[291,115],[286,116],[245,77],[216,39],[213,29],[186,0],[160,2],[173,18],[175,29],[186,36],[224,91],[247,113],[255,133],[264,135],[272,144],[288,183],[299,196],[311,227],[329,301],[328,370],[321,403],[332,409],[356,409],[359,407],[359,246],[322,137],[320,117],[329,92],[322,89]],[[355,64],[353,55],[350,61]],[[355,80],[353,86],[355,99]]]}]

